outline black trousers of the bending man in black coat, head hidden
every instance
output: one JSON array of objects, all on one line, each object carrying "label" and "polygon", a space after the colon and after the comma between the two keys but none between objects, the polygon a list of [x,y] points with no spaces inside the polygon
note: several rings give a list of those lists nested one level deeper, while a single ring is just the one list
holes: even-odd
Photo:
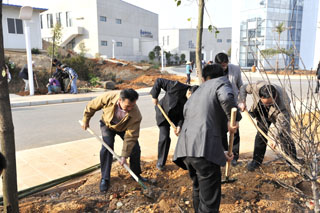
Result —
[{"label": "black trousers of the bending man in black coat, head hidden", "polygon": [[160,125],[159,127],[159,142],[158,142],[158,166],[166,165],[169,149],[170,149],[170,126],[168,122],[164,125]]}]

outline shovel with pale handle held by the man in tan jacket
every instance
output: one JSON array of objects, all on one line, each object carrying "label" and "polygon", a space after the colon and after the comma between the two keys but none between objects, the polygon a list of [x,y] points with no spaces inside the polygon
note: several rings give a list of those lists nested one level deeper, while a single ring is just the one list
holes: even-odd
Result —
[{"label": "shovel with pale handle held by the man in tan jacket", "polygon": [[[80,121],[80,120],[79,120],[79,123],[80,123],[81,126],[83,125],[83,122]],[[108,144],[106,144],[96,133],[94,133],[94,131],[93,131],[92,129],[90,129],[90,128],[88,127],[88,128],[87,128],[87,131],[88,131],[91,135],[93,135],[98,141],[100,141],[100,143],[101,143],[119,162],[121,162],[121,159],[120,159],[119,155],[117,155],[117,154],[113,151],[113,149],[111,149],[111,147],[108,146]],[[134,179],[135,181],[137,181],[137,182],[140,184],[140,186],[142,186],[142,188],[143,188],[143,194],[145,194],[148,198],[151,198],[151,199],[156,200],[154,193],[153,193],[150,189],[148,189],[148,188],[146,187],[146,185],[144,185],[144,184],[142,183],[142,181],[141,181],[141,180],[137,177],[137,175],[129,168],[129,166],[128,166],[127,164],[123,164],[123,167],[130,173],[130,175],[133,177],[133,179]]]}]

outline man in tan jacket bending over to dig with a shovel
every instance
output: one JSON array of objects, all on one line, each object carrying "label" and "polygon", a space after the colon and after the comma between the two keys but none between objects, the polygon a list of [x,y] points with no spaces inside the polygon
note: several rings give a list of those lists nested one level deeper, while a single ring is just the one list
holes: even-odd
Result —
[{"label": "man in tan jacket bending over to dig with a shovel", "polygon": [[[102,109],[103,114],[100,120],[102,139],[113,149],[115,136],[119,135],[123,140],[121,165],[127,164],[127,158],[130,157],[130,169],[141,181],[146,182],[147,179],[140,176],[141,150],[138,138],[142,116],[136,105],[138,97],[139,94],[133,89],[106,92],[96,97],[87,104],[84,110],[82,128],[86,130],[91,117]],[[100,150],[100,164],[100,191],[107,192],[111,180],[112,154],[104,146]]]}]

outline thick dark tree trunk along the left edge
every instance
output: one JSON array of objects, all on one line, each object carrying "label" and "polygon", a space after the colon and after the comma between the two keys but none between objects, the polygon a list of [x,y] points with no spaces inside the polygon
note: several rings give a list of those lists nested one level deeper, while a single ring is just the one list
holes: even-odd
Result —
[{"label": "thick dark tree trunk along the left edge", "polygon": [[[0,18],[2,20],[2,0],[0,0]],[[2,21],[0,22],[0,67],[4,68],[4,49]],[[1,150],[7,161],[7,168],[3,171],[3,207],[4,212],[19,212],[17,193],[16,154],[14,131],[9,99],[7,76],[0,75],[0,142]]]}]

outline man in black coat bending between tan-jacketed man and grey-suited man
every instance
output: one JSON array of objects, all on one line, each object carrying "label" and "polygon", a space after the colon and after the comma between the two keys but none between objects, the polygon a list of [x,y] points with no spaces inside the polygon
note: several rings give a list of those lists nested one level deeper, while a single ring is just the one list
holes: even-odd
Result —
[{"label": "man in black coat bending between tan-jacketed man and grey-suited man", "polygon": [[183,107],[187,101],[187,93],[191,95],[191,92],[194,91],[197,87],[198,86],[183,84],[179,81],[171,81],[163,78],[158,78],[150,91],[150,94],[152,95],[152,101],[156,105],[156,120],[160,131],[157,162],[157,168],[159,170],[163,170],[163,167],[166,164],[171,143],[170,124],[157,107],[158,97],[161,89],[166,91],[166,94],[159,101],[159,104],[166,112],[170,120],[177,127],[177,129],[175,130],[175,134],[178,135],[183,123]]}]

